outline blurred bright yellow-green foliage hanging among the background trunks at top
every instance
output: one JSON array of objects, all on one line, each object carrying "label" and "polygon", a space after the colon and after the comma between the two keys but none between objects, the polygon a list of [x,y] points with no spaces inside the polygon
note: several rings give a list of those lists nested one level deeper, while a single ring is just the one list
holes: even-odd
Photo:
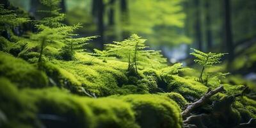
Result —
[{"label": "blurred bright yellow-green foliage hanging among the background trunks at top", "polygon": [[124,31],[147,36],[148,43],[157,47],[179,45],[180,42],[189,44],[191,40],[184,33],[186,15],[182,12],[183,2],[183,0],[127,1],[129,16],[119,16],[122,24],[120,27]]}]

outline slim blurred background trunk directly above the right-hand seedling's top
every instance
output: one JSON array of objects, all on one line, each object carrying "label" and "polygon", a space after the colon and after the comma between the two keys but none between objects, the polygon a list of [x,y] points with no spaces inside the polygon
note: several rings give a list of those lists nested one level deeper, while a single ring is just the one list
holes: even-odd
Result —
[{"label": "slim blurred background trunk directly above the right-hand seedling's top", "polygon": [[206,20],[206,40],[207,40],[207,51],[211,51],[212,48],[212,31],[211,31],[211,10],[210,1],[205,1],[205,20]]}]

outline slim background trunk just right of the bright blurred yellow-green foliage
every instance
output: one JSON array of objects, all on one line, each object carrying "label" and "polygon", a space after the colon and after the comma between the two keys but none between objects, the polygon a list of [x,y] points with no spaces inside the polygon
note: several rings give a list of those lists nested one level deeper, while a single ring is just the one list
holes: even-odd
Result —
[{"label": "slim background trunk just right of the bright blurred yellow-green foliage", "polygon": [[198,49],[202,51],[202,32],[201,32],[201,19],[200,19],[200,0],[195,0],[195,36],[196,36],[196,42],[198,44]]}]

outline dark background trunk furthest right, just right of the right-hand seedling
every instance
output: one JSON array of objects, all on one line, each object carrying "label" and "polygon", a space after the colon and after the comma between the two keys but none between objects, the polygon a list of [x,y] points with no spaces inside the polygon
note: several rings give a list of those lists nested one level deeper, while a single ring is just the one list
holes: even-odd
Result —
[{"label": "dark background trunk furthest right, just right of the right-hand seedling", "polygon": [[234,59],[234,45],[232,38],[232,23],[231,23],[231,10],[230,10],[230,0],[224,1],[224,24],[225,24],[225,42],[226,51],[228,52],[228,61]]}]

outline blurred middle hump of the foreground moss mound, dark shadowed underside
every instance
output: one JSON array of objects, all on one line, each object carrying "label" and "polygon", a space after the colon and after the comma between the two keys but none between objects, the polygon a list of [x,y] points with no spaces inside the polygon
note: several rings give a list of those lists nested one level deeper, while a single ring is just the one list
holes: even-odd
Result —
[{"label": "blurred middle hump of the foreground moss mound, dark shadowed underside", "polygon": [[37,108],[38,118],[45,127],[93,126],[92,111],[73,95],[58,88],[26,90],[24,93],[31,97],[31,102]]}]

